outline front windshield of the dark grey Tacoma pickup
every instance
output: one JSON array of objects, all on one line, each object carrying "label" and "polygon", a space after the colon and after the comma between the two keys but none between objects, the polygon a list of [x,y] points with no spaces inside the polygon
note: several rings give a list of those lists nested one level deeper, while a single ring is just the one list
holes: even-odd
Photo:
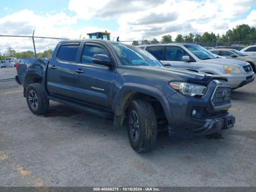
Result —
[{"label": "front windshield of the dark grey Tacoma pickup", "polygon": [[149,52],[134,46],[111,43],[123,65],[160,66],[163,65]]}]

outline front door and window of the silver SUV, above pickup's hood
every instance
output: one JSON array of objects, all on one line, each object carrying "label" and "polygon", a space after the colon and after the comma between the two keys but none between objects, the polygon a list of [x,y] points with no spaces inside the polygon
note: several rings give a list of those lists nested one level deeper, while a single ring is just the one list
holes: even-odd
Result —
[{"label": "front door and window of the silver SUV, above pickup's hood", "polygon": [[193,62],[182,61],[183,56],[189,56],[189,54],[178,46],[166,46],[165,50],[166,59],[162,61],[163,64],[170,64],[175,68],[189,68],[193,69]]}]

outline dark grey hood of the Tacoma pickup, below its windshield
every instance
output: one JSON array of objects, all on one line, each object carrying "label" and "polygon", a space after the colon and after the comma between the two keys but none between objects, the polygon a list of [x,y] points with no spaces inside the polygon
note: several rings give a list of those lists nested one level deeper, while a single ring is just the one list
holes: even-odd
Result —
[{"label": "dark grey hood of the Tacoma pickup, below its windshield", "polygon": [[[170,74],[170,76],[178,76],[179,79],[182,78],[184,82],[191,82],[196,84],[207,85],[211,80],[225,80],[228,81],[225,77],[220,77],[218,75],[210,75],[202,72],[193,72],[186,70],[184,68],[171,68],[171,67],[151,67],[151,66],[137,66],[138,68],[144,68],[150,71],[154,71],[154,74],[158,76],[165,76]],[[150,73],[149,73],[150,75]]]}]

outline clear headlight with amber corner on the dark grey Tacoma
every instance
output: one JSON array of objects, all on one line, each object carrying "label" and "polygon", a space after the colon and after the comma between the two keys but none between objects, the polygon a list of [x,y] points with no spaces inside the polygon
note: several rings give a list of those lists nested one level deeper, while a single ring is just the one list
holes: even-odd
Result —
[{"label": "clear headlight with amber corner on the dark grey Tacoma", "polygon": [[188,96],[204,95],[207,90],[206,86],[190,84],[185,82],[170,82],[169,85],[172,88],[179,90],[181,94]]}]

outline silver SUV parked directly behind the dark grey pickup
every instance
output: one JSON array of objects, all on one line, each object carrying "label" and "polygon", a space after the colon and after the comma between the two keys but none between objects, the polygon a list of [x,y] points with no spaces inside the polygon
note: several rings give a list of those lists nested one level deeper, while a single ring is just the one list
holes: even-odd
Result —
[{"label": "silver SUV parked directly behind the dark grey pickup", "polygon": [[147,44],[139,47],[144,47],[144,50],[170,67],[189,68],[226,77],[233,89],[242,87],[254,80],[254,72],[248,62],[218,58],[197,44]]}]

